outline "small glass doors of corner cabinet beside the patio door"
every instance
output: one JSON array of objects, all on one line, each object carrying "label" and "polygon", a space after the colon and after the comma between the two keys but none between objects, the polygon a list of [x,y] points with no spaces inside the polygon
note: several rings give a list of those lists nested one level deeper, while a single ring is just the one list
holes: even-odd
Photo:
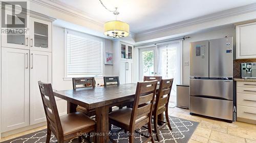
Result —
[{"label": "small glass doors of corner cabinet beside the patio door", "polygon": [[133,59],[133,45],[120,43],[121,60]]}]

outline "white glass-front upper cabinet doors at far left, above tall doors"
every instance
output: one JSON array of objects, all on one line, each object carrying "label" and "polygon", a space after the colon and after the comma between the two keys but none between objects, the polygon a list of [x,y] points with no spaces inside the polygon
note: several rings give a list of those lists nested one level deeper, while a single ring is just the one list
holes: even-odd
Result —
[{"label": "white glass-front upper cabinet doors at far left, above tall doors", "polygon": [[[21,34],[3,34],[2,46],[19,49],[32,49],[38,51],[52,51],[52,22],[40,18],[29,17],[25,30]],[[7,28],[12,30],[12,28]],[[15,30],[13,30],[15,31]]]}]

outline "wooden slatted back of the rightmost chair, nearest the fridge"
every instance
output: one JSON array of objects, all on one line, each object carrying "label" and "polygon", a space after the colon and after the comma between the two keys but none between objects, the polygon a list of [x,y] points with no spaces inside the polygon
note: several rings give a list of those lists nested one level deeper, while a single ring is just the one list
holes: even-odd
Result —
[{"label": "wooden slatted back of the rightmost chair, nearest the fridge", "polygon": [[[168,108],[168,103],[170,99],[170,92],[173,86],[173,78],[172,79],[161,79],[160,85],[158,89],[158,93],[156,96],[156,104],[154,108],[154,114],[157,112],[163,112],[166,108]],[[160,108],[161,107],[161,108]],[[165,107],[165,108],[162,108]]]}]

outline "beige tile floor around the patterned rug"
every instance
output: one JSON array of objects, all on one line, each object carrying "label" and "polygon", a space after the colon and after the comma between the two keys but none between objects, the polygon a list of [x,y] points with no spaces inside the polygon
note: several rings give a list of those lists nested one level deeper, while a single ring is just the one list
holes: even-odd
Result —
[{"label": "beige tile floor around the patterned rug", "polygon": [[[177,107],[169,108],[169,115],[199,122],[197,129],[191,136],[188,143],[256,143],[256,125],[242,122],[226,123],[203,117],[191,116],[189,115],[188,109]],[[46,126],[43,126],[26,132],[3,137],[0,139],[0,142],[45,128]]]}]

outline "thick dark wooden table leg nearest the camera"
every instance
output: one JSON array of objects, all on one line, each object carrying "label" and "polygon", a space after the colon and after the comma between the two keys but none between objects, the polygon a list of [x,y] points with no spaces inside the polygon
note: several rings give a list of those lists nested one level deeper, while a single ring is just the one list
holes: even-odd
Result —
[{"label": "thick dark wooden table leg nearest the camera", "polygon": [[96,142],[109,142],[109,106],[96,108]]}]

